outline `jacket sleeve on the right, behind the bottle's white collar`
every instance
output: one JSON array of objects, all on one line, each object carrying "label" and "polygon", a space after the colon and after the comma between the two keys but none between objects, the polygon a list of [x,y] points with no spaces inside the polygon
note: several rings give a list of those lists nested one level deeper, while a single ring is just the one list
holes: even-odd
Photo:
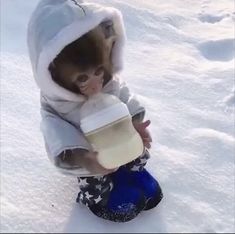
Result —
[{"label": "jacket sleeve on the right, behind the bottle's white collar", "polygon": [[125,82],[120,84],[119,99],[127,105],[132,118],[143,120],[145,108],[137,97],[131,93]]}]

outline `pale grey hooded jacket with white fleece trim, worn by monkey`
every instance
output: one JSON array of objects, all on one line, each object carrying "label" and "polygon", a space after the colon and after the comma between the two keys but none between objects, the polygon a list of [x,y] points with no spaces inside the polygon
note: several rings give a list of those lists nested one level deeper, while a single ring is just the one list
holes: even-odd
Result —
[{"label": "pale grey hooded jacket with white fleece trim, worn by monkey", "polygon": [[[35,81],[41,90],[41,130],[49,159],[55,165],[56,157],[65,150],[91,150],[92,147],[79,126],[79,110],[85,97],[54,82],[48,66],[66,45],[110,19],[117,34],[112,51],[114,76],[102,92],[117,96],[134,116],[144,108],[116,76],[122,69],[125,42],[123,19],[117,9],[78,0],[41,0],[29,21],[29,56]],[[77,176],[91,175],[84,168],[66,172]]]}]

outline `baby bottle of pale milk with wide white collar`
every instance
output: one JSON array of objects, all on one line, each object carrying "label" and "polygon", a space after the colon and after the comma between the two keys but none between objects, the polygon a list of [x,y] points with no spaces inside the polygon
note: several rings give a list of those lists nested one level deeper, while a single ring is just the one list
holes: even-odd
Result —
[{"label": "baby bottle of pale milk with wide white collar", "polygon": [[133,127],[129,110],[117,97],[104,93],[89,97],[81,108],[80,120],[81,129],[104,168],[117,168],[143,153],[143,142]]}]

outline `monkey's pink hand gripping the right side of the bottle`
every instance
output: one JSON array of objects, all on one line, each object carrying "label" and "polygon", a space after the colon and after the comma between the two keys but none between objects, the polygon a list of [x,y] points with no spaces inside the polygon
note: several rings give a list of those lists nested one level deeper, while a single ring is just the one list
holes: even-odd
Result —
[{"label": "monkey's pink hand gripping the right side of the bottle", "polygon": [[151,142],[152,137],[150,135],[150,132],[148,131],[147,127],[150,125],[150,120],[147,120],[145,122],[139,122],[139,121],[132,121],[133,126],[135,127],[136,131],[140,134],[143,144],[146,148],[151,148]]}]

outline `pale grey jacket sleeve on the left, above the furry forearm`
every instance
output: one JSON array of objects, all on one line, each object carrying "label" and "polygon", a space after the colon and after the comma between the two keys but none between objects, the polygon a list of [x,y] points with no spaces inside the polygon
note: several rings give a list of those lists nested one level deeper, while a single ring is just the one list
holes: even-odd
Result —
[{"label": "pale grey jacket sleeve on the left, above the furry forearm", "polygon": [[55,162],[62,152],[71,149],[90,150],[81,130],[61,118],[49,105],[41,106],[41,131],[49,158]]}]

